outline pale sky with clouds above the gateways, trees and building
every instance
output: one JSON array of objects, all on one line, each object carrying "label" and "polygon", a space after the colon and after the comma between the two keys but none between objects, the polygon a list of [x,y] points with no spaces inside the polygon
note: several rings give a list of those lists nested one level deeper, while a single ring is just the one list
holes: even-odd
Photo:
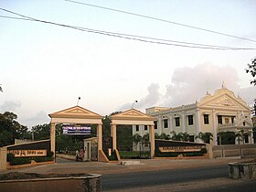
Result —
[{"label": "pale sky with clouds above the gateways, trees and building", "polygon": [[31,128],[49,123],[49,113],[77,105],[79,97],[81,107],[101,115],[128,110],[134,101],[134,108],[145,112],[194,103],[223,81],[253,103],[256,87],[245,69],[256,57],[256,1],[77,1],[0,0],[0,8],[72,27],[254,49],[150,43],[7,18],[24,17],[0,10],[0,112],[16,113],[17,121]]}]

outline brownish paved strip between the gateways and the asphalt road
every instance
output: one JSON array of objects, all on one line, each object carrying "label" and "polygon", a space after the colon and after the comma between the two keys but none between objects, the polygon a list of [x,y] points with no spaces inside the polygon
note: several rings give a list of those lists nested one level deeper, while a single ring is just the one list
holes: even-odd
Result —
[{"label": "brownish paved strip between the gateways and the asphalt road", "polygon": [[[120,163],[101,162],[75,162],[57,159],[52,165],[36,165],[21,169],[1,171],[1,174],[9,172],[37,173],[37,174],[117,174],[129,172],[154,171],[163,169],[181,169],[202,166],[227,165],[231,162],[244,161],[238,158],[218,159],[192,159],[192,160],[169,160],[169,159],[141,159],[140,165],[121,165]],[[129,160],[130,161],[130,160]],[[133,161],[133,160],[131,160]],[[136,160],[138,161],[138,160]]]}]

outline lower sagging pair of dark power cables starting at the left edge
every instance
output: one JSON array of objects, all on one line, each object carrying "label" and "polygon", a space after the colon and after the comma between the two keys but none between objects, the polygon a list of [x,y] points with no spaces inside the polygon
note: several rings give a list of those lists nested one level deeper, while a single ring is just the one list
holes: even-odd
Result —
[{"label": "lower sagging pair of dark power cables starting at the left edge", "polygon": [[[0,10],[3,10],[7,13],[10,13],[10,14],[13,14],[16,16],[21,16],[21,17],[13,17],[13,16],[0,16],[0,17],[11,18],[11,19],[21,19],[21,20],[28,20],[28,21],[37,21],[37,22],[55,25],[55,26],[59,26],[59,27],[69,27],[72,29],[80,30],[80,31],[96,33],[96,34],[101,34],[101,35],[111,36],[111,37],[121,37],[121,38],[129,39],[129,40],[142,41],[145,43],[162,44],[162,45],[176,46],[176,47],[183,47],[183,48],[205,48],[205,49],[218,49],[218,50],[254,50],[254,49],[256,49],[256,48],[220,47],[220,46],[212,46],[212,45],[204,45],[204,44],[196,44],[196,43],[159,39],[159,38],[154,38],[154,37],[142,37],[142,36],[134,36],[134,35],[129,35],[129,34],[113,33],[113,32],[108,32],[108,31],[95,30],[95,29],[85,28],[85,27],[74,27],[74,26],[54,23],[54,22],[50,22],[50,21],[40,20],[40,19],[33,18],[30,16],[21,15],[16,12],[4,9],[4,8],[0,8]],[[169,43],[169,42],[173,42],[173,43]]]}]

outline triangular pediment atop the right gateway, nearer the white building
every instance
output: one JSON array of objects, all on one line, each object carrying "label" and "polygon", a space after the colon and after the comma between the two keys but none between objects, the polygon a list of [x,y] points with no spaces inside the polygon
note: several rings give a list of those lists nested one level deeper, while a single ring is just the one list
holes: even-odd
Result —
[{"label": "triangular pediment atop the right gateway, nearer the white building", "polygon": [[125,112],[119,112],[117,114],[112,115],[112,119],[123,119],[123,120],[153,120],[154,118],[145,114],[144,112],[140,112],[138,110],[130,109]]}]

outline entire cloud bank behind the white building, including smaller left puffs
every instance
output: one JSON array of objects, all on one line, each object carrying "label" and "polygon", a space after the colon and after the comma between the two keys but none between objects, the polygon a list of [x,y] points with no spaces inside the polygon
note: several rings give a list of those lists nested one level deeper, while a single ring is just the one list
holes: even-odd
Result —
[{"label": "entire cloud bank behind the white building, including smaller left puffs", "polygon": [[[175,69],[171,82],[165,85],[165,91],[159,91],[158,84],[148,87],[148,95],[142,98],[137,106],[140,109],[153,107],[155,104],[164,107],[176,107],[200,101],[209,91],[211,94],[221,88],[223,81],[226,87],[249,105],[255,99],[255,87],[240,88],[239,76],[231,66],[219,67],[204,63],[195,67]],[[132,103],[129,103],[132,106]]]}]

